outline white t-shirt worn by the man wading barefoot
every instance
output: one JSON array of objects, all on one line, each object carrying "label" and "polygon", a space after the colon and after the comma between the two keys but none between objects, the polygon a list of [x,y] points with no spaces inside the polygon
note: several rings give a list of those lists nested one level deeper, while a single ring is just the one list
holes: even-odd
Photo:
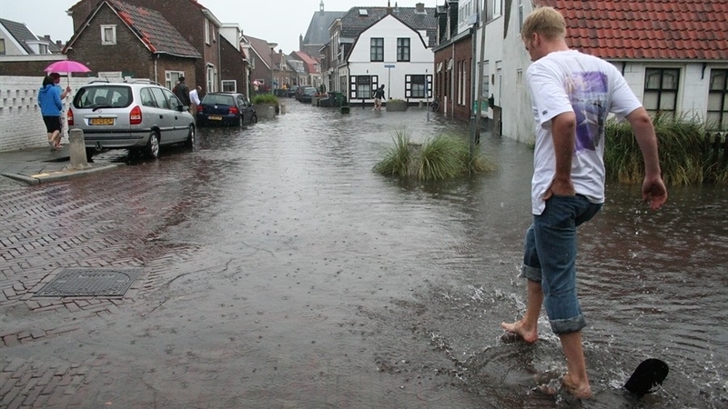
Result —
[{"label": "white t-shirt worn by the man wading barefoot", "polygon": [[566,112],[576,115],[571,163],[574,189],[591,203],[604,203],[607,115],[614,114],[621,121],[642,104],[614,65],[574,50],[542,57],[529,66],[526,78],[537,128],[531,180],[533,214],[543,212],[543,195],[556,171],[551,119]]}]

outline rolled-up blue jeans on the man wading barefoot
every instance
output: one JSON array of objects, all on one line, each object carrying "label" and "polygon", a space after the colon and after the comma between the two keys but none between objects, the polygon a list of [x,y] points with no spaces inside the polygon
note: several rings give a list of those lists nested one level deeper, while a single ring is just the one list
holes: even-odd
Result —
[{"label": "rolled-up blue jeans on the man wading barefoot", "polygon": [[576,227],[599,213],[582,195],[551,196],[526,231],[521,276],[541,283],[543,304],[554,334],[586,326],[576,294]]}]

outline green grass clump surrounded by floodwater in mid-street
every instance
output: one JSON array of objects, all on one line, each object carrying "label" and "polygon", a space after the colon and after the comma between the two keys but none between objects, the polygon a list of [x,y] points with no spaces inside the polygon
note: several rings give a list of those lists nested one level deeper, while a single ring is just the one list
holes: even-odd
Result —
[{"label": "green grass clump surrounded by floodwater in mid-street", "polygon": [[410,135],[397,130],[393,139],[394,146],[374,166],[381,175],[433,181],[495,169],[479,153],[470,157],[470,146],[464,138],[438,135],[420,145],[412,144]]}]

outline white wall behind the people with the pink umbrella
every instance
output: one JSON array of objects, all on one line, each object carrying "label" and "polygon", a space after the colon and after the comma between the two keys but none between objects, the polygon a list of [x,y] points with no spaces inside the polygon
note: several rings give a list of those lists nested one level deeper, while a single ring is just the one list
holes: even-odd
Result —
[{"label": "white wall behind the people with the pink umbrella", "polygon": [[[64,112],[76,95],[80,85],[96,80],[95,77],[61,78],[61,85],[71,85],[71,93],[64,100]],[[0,75],[0,152],[48,145],[48,137],[38,106],[38,90],[43,76]],[[68,130],[64,121],[63,138]]]}]

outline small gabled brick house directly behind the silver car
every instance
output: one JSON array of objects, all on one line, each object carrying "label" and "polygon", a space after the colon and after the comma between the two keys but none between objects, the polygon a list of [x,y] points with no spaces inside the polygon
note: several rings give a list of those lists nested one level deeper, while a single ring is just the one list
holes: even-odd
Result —
[{"label": "small gabled brick house directly behind the silver car", "polygon": [[104,0],[87,15],[64,49],[99,76],[150,78],[172,88],[179,75],[195,86],[195,48],[158,12]]}]

